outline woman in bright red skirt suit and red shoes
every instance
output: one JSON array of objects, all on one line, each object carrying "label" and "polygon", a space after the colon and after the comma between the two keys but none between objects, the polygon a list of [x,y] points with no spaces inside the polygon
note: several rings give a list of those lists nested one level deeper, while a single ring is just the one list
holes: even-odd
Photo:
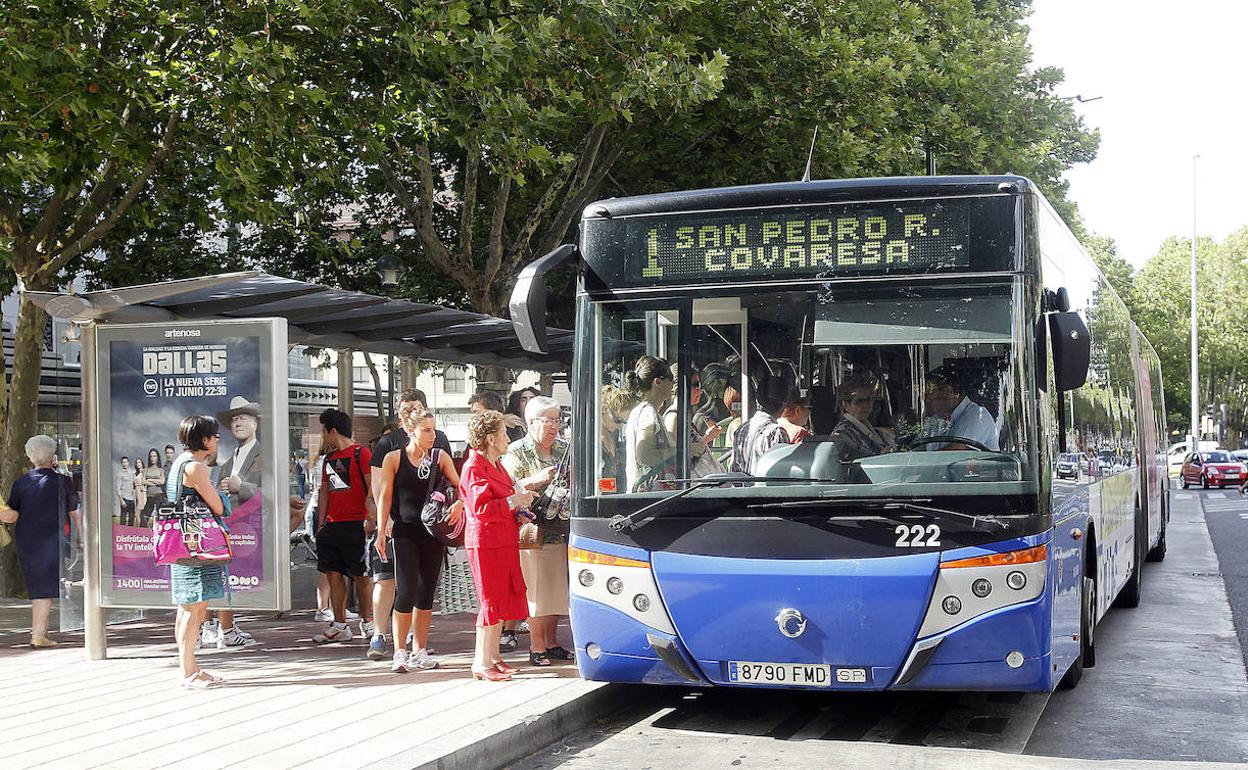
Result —
[{"label": "woman in bright red skirt suit and red shoes", "polygon": [[517,512],[528,508],[535,495],[517,492],[515,482],[499,464],[509,444],[502,413],[478,412],[468,419],[468,446],[473,451],[459,474],[459,497],[468,514],[464,548],[480,605],[472,675],[489,681],[510,679],[515,671],[498,656],[503,621],[523,620],[529,614],[520,574],[523,517]]}]

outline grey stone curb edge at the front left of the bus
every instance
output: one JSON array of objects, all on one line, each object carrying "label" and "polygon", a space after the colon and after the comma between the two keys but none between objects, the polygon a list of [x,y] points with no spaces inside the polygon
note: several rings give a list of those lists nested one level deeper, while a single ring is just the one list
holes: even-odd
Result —
[{"label": "grey stone curb edge at the front left of the bus", "polygon": [[505,768],[631,705],[644,688],[603,684],[548,711],[528,716],[467,746],[417,765],[418,770]]}]

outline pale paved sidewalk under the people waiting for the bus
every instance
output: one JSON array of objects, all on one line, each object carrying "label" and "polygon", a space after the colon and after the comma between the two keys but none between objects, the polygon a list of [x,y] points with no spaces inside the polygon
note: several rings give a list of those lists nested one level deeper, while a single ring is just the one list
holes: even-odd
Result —
[{"label": "pale paved sidewalk under the people waiting for the bus", "polygon": [[[34,650],[0,635],[0,768],[494,768],[614,710],[620,690],[572,664],[535,669],[505,655],[509,683],[473,681],[472,614],[434,616],[442,668],[391,674],[367,641],[313,645],[311,612],[238,615],[260,645],[201,653],[222,688],[178,686],[172,613],[111,626],[109,659],[86,661],[81,634]],[[570,633],[560,626],[570,645]],[[522,666],[523,664],[523,666]]]}]

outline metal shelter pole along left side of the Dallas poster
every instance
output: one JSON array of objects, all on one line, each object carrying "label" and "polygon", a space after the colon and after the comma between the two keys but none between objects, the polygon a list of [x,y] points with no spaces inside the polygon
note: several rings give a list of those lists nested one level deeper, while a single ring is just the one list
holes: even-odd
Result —
[{"label": "metal shelter pole along left side of the Dallas poster", "polygon": [[[104,468],[100,457],[100,402],[97,397],[100,372],[96,366],[96,324],[82,328],[82,479],[86,497],[82,505],[82,631],[84,651],[87,660],[109,656],[109,639],[105,633],[102,607],[104,587],[100,584],[102,569],[100,548],[105,522],[112,520],[111,510],[105,510]],[[110,497],[109,504],[112,499]],[[106,515],[107,513],[107,515]]]}]

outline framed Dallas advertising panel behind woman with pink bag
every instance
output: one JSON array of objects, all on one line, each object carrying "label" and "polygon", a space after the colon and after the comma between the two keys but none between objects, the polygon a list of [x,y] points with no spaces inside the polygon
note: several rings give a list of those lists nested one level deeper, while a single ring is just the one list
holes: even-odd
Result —
[{"label": "framed Dallas advertising panel behind woman with pink bag", "polygon": [[285,399],[275,403],[286,392],[285,322],[102,327],[97,354],[105,605],[171,604],[170,568],[155,562],[152,523],[176,492],[167,482],[185,462],[178,427],[191,416],[220,423],[208,462],[213,487],[228,499],[228,604],[288,604],[288,473],[278,461],[287,454],[287,413]]}]

